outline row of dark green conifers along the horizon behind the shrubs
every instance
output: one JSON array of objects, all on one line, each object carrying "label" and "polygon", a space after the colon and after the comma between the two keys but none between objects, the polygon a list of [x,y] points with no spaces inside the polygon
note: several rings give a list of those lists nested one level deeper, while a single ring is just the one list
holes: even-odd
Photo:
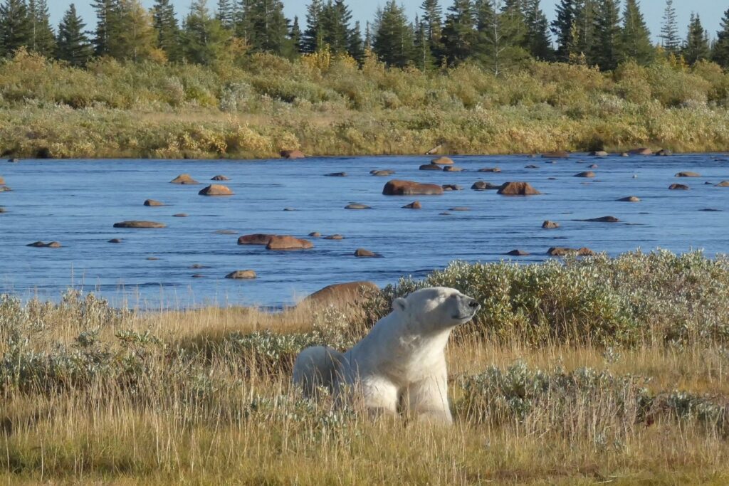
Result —
[{"label": "row of dark green conifers along the horizon behind the shrubs", "polygon": [[644,65],[670,55],[729,68],[729,9],[710,42],[695,14],[687,35],[679,34],[673,0],[666,0],[658,45],[639,0],[625,0],[622,8],[620,0],[559,0],[552,22],[539,0],[453,0],[445,11],[439,0],[424,0],[414,19],[388,0],[364,31],[344,0],[311,0],[303,27],[285,17],[281,0],[217,0],[214,8],[192,0],[182,23],[170,0],[155,0],[151,9],[140,0],[91,3],[97,21],[87,31],[74,4],[54,29],[47,0],[3,0],[0,55],[24,48],[74,66],[101,56],[208,65],[249,52],[295,58],[326,50],[424,71],[475,62],[495,74],[530,58],[612,70],[626,60]]}]

